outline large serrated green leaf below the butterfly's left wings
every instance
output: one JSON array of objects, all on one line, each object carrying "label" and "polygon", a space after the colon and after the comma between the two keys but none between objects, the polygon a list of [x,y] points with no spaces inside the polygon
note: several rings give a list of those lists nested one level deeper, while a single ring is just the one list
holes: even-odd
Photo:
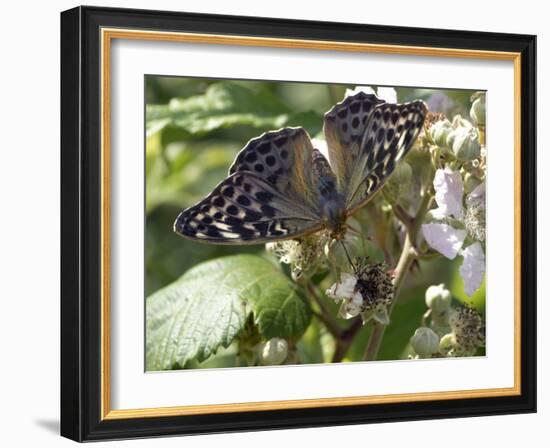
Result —
[{"label": "large serrated green leaf below the butterfly's left wings", "polygon": [[299,291],[255,255],[202,263],[146,302],[147,370],[184,367],[228,347],[254,316],[261,336],[297,340],[311,320]]}]

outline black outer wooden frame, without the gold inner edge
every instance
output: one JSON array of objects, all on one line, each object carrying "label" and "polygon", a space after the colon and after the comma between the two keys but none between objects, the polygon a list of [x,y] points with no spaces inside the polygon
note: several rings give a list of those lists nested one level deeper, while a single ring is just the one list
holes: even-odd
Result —
[{"label": "black outer wooden frame, without the gold inner edge", "polygon": [[[521,395],[101,421],[101,27],[520,52]],[[535,56],[536,37],[531,35],[95,7],[63,12],[61,434],[88,441],[535,412]]]}]

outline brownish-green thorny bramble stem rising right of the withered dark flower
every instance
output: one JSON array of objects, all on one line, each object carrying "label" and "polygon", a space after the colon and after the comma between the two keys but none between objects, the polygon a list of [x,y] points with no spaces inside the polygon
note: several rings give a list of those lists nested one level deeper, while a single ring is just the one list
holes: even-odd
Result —
[{"label": "brownish-green thorny bramble stem rising right of the withered dark flower", "polygon": [[[388,314],[390,316],[395,306],[395,303],[397,302],[399,288],[403,284],[403,281],[405,280],[405,277],[409,272],[411,265],[418,257],[418,251],[415,248],[416,240],[418,238],[418,231],[420,230],[420,226],[422,224],[424,216],[430,209],[432,198],[433,196],[431,192],[425,191],[424,195],[422,196],[420,206],[418,207],[416,216],[413,218],[411,224],[407,226],[406,223],[403,223],[405,224],[407,233],[405,236],[405,243],[403,244],[403,250],[401,251],[401,256],[399,257],[397,267],[395,268],[395,275],[393,278],[394,300],[392,301],[390,309],[388,310]],[[369,339],[369,343],[367,345],[367,349],[365,351],[365,361],[373,361],[377,358],[385,329],[385,325],[376,324],[374,326],[374,329],[372,330]]]}]

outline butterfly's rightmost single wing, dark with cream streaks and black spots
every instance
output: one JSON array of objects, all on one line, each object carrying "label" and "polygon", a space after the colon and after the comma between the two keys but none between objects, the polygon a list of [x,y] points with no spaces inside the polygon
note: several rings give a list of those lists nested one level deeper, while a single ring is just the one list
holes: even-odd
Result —
[{"label": "butterfly's rightmost single wing, dark with cream streaks and black spots", "polygon": [[378,191],[411,149],[428,112],[423,101],[380,104],[367,120],[359,156],[346,191],[347,214],[354,213]]}]

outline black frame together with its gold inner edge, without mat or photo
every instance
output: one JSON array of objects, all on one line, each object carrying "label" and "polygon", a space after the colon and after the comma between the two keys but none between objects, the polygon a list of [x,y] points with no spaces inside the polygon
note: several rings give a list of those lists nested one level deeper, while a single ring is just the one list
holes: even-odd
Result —
[{"label": "black frame together with its gold inner edge, without mat or photo", "polygon": [[[513,385],[113,409],[112,43],[232,45],[513,65]],[[328,53],[327,53],[328,54]],[[61,435],[76,441],[536,411],[536,37],[77,7],[61,14]],[[212,74],[215,76],[216,74]],[[513,91],[512,91],[513,90]],[[127,168],[131,169],[131,167]],[[142,298],[136,298],[141,300]],[[121,349],[118,347],[118,349]],[[124,348],[122,348],[124,349]],[[143,372],[141,372],[143,374]],[[119,384],[117,382],[117,384]]]}]

